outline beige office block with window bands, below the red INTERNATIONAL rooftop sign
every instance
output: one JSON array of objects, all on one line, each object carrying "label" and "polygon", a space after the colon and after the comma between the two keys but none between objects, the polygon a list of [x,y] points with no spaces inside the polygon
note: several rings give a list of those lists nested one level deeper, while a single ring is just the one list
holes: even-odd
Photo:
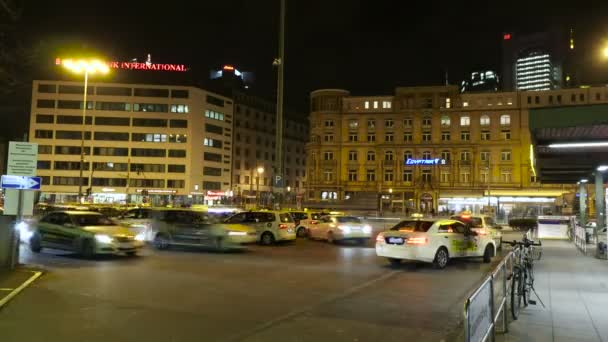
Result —
[{"label": "beige office block with window bands, below the red INTERNATIONAL rooftop sign", "polygon": [[[232,100],[200,88],[34,81],[43,201],[212,203],[231,195]],[[84,136],[82,131],[84,132]],[[83,139],[84,138],[84,139]],[[86,190],[85,190],[86,189]]]}]

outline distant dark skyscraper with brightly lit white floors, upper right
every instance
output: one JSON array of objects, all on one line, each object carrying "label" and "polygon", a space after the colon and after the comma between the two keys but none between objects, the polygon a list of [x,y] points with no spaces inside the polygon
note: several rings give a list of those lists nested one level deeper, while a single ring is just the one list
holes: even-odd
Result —
[{"label": "distant dark skyscraper with brightly lit white floors, upper right", "polygon": [[551,90],[573,84],[574,32],[550,30],[505,33],[502,39],[503,90]]}]

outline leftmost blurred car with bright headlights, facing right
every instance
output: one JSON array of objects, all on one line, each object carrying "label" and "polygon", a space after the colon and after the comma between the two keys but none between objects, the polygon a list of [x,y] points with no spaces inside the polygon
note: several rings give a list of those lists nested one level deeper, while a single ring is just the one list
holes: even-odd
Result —
[{"label": "leftmost blurred car with bright headlights, facing right", "polygon": [[35,253],[48,247],[80,253],[85,258],[97,254],[135,255],[144,245],[130,230],[91,211],[55,211],[45,215],[33,227],[29,244]]}]

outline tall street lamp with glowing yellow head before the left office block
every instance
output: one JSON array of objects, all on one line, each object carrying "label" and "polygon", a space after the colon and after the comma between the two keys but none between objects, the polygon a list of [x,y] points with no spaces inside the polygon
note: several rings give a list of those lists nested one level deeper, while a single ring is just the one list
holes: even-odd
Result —
[{"label": "tall street lamp with glowing yellow head before the left office block", "polygon": [[[82,171],[84,168],[84,133],[87,115],[87,86],[89,82],[89,74],[107,74],[110,72],[108,65],[97,59],[64,59],[61,65],[75,74],[84,74],[84,99],[82,102],[82,133],[80,137],[80,174],[78,176],[78,201],[82,200]],[[93,167],[91,165],[91,167]],[[92,179],[90,180],[92,183]],[[89,188],[92,188],[89,184]]]}]

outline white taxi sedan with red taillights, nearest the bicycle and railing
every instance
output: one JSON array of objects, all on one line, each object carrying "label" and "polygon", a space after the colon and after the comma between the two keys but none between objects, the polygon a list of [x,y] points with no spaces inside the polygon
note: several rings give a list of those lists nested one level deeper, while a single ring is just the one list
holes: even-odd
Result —
[{"label": "white taxi sedan with red taillights, nearest the bicycle and railing", "polygon": [[376,237],[376,255],[398,265],[401,260],[418,260],[444,268],[451,258],[483,257],[490,262],[496,243],[456,220],[408,219]]}]

